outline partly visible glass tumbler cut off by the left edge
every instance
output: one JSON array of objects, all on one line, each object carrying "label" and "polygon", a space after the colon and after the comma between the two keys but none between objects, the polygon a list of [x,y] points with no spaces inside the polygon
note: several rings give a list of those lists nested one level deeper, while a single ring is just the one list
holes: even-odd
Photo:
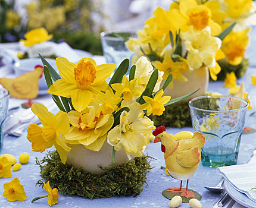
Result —
[{"label": "partly visible glass tumbler cut off by the left edge", "polygon": [[8,90],[0,88],[0,152],[4,140],[4,120],[8,112],[9,94]]}]

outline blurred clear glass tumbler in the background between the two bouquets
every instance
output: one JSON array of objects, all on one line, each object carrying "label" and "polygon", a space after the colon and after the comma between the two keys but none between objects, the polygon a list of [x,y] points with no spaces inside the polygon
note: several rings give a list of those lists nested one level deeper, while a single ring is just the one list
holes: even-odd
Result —
[{"label": "blurred clear glass tumbler in the background between the two bouquets", "polygon": [[133,52],[126,47],[125,42],[129,37],[136,36],[133,32],[102,32],[101,45],[107,62],[118,66],[123,59],[131,59]]}]

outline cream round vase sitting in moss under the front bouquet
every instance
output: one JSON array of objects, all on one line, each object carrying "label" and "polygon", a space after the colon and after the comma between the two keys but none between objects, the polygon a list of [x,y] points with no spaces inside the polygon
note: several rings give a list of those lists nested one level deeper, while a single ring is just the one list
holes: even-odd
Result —
[{"label": "cream round vase sitting in moss under the front bouquet", "polygon": [[[102,174],[102,168],[111,168],[112,162],[112,150],[113,147],[107,143],[107,139],[105,140],[102,148],[99,152],[95,152],[87,149],[82,144],[72,144],[70,145],[71,151],[67,154],[67,164],[72,165],[74,168],[83,168],[84,171],[90,172],[90,174]],[[124,163],[132,161],[128,159],[126,152],[124,149],[115,152],[115,160],[114,163],[118,165],[122,165]]]}]

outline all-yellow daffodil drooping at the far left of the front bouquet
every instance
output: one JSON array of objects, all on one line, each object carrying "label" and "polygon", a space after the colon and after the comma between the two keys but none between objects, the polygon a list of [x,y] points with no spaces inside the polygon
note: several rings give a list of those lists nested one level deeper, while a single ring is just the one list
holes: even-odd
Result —
[{"label": "all-yellow daffodil drooping at the far left of the front bouquet", "polygon": [[68,115],[63,111],[54,115],[40,103],[34,103],[31,110],[38,116],[43,127],[30,124],[27,129],[27,139],[32,143],[35,151],[43,152],[45,149],[54,146],[60,155],[61,162],[67,160],[67,152],[71,149],[64,143],[61,134],[67,134],[69,130]]}]

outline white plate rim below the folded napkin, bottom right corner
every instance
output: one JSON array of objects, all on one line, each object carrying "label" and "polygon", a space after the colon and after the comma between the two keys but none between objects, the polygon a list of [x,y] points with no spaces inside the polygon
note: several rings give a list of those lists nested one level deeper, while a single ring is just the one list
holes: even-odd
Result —
[{"label": "white plate rim below the folded napkin, bottom right corner", "polygon": [[232,185],[229,184],[226,180],[224,181],[224,188],[227,191],[227,194],[229,194],[230,197],[233,198],[233,200],[237,201],[239,204],[242,204],[245,207],[249,208],[255,208],[256,203],[249,199],[245,194],[239,192],[235,188],[232,187]]}]

